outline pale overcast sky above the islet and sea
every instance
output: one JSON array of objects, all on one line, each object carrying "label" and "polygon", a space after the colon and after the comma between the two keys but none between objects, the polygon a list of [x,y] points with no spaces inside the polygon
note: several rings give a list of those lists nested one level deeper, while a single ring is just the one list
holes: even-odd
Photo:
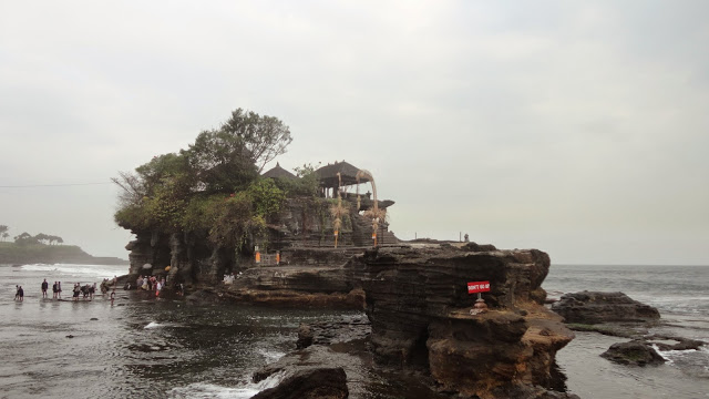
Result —
[{"label": "pale overcast sky above the islet and sea", "polygon": [[702,0],[0,1],[0,225],[127,258],[111,177],[243,108],[290,127],[286,168],[370,171],[402,239],[709,265],[708,14]]}]

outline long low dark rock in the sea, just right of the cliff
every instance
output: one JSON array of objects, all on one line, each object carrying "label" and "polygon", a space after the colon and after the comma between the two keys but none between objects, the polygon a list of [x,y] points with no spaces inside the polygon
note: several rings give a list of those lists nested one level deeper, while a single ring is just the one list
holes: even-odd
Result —
[{"label": "long low dark rock in the sea, just right of the cliff", "polygon": [[623,293],[580,291],[565,294],[552,310],[566,323],[599,324],[608,321],[648,321],[660,318],[659,311]]}]

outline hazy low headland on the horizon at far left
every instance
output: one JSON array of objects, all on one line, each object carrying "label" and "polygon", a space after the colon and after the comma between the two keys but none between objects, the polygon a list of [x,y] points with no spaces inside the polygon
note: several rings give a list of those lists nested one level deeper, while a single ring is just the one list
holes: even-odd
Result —
[{"label": "hazy low headland on the horizon at far left", "polygon": [[0,264],[127,265],[129,260],[111,256],[93,256],[76,245],[18,245],[0,243]]}]

